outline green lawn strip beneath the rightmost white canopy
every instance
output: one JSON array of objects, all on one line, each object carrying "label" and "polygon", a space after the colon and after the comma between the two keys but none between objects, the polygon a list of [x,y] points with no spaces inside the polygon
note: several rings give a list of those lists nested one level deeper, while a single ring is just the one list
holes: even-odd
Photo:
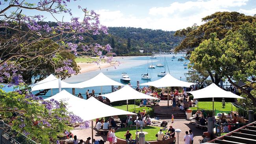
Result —
[{"label": "green lawn strip beneath the rightmost white canopy", "polygon": [[[198,108],[204,110],[212,110],[212,102],[198,102]],[[197,105],[195,107],[191,107],[192,110],[197,110]],[[221,102],[214,102],[214,109],[219,111],[231,111],[231,103],[226,102],[225,108],[222,107]]]}]

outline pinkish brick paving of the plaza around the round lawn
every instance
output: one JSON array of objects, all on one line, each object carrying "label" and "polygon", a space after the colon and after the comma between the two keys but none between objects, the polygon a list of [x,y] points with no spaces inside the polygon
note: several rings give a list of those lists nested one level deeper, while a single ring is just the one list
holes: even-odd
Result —
[{"label": "pinkish brick paving of the plaza around the round lawn", "polygon": [[[156,108],[157,107],[157,108]],[[173,109],[171,109],[171,102],[170,102],[170,108],[166,108],[167,107],[167,101],[161,101],[160,102],[160,106],[156,106],[155,109],[158,109],[158,111],[161,111],[161,113],[181,113],[182,111],[178,110],[177,111],[173,111]],[[195,135],[194,137],[194,144],[198,144],[198,140],[202,139],[201,135],[203,134],[203,132],[205,132],[206,130],[202,130],[202,129],[198,129],[195,128],[195,121],[192,121],[192,123],[190,123],[190,120],[186,120],[186,117],[179,117],[179,118],[175,118],[174,117],[174,123],[171,124],[171,115],[170,116],[165,116],[165,117],[160,117],[161,120],[165,120],[165,121],[170,121],[168,123],[168,128],[169,126],[173,126],[174,129],[180,129],[182,132],[180,133],[180,138],[179,138],[179,144],[184,144],[184,135],[185,131],[189,131],[189,129],[191,129]],[[91,126],[91,124],[90,124]],[[93,126],[95,126],[95,122],[93,124]],[[83,139],[86,140],[87,137],[91,137],[91,127],[89,129],[74,129],[72,130],[72,133],[74,135],[76,135],[79,139]],[[97,139],[102,139],[104,141],[107,140],[106,135],[98,135],[96,134],[96,131],[93,130],[94,136],[93,138]],[[176,136],[176,140],[177,140],[177,135]],[[105,144],[109,144],[109,142],[106,142]],[[177,142],[176,142],[177,144]]]}]

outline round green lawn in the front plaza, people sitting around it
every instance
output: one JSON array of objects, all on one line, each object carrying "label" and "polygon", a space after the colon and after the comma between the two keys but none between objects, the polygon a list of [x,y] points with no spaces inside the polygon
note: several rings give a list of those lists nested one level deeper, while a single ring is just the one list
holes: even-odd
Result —
[{"label": "round green lawn in the front plaza, people sitting around it", "polygon": [[[146,131],[148,134],[145,135],[145,140],[146,141],[152,141],[152,140],[156,140],[157,137],[156,137],[156,134],[158,133],[158,131],[160,130],[160,128],[163,128],[163,127],[155,127],[155,126],[146,126],[146,127],[143,127],[143,131]],[[116,132],[115,132],[115,136],[117,136],[118,138],[122,138],[122,139],[125,139],[124,137],[124,134],[126,133],[127,129],[130,130],[130,133],[132,134],[132,139],[136,139],[136,126],[133,126],[132,128],[130,127],[124,127],[124,128],[121,128],[121,129],[118,129]],[[140,131],[140,128],[139,130]],[[167,130],[163,131],[163,133],[167,132]],[[139,135],[139,133],[138,133]]]}]

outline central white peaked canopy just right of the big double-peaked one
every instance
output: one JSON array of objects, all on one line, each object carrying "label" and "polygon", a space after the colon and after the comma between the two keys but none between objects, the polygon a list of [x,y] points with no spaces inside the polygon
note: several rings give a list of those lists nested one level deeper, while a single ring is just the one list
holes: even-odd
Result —
[{"label": "central white peaked canopy just right of the big double-peaked one", "polygon": [[[153,96],[148,96],[147,94],[143,94],[138,92],[137,90],[132,89],[129,85],[124,86],[122,89],[119,89],[115,92],[111,92],[109,94],[102,94],[100,96],[104,96],[110,100],[110,102],[116,102],[121,100],[127,100],[127,111],[128,111],[128,100],[135,100],[135,99],[153,99],[159,100]],[[135,109],[135,103],[134,103]]]}]

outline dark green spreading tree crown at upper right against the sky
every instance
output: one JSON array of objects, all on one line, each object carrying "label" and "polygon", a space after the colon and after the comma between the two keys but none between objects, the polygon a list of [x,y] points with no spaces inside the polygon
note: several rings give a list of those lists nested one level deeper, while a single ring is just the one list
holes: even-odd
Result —
[{"label": "dark green spreading tree crown at upper right against the sky", "polygon": [[185,37],[175,48],[175,51],[187,50],[193,51],[199,44],[210,38],[210,33],[216,33],[218,39],[223,39],[229,30],[235,31],[245,22],[254,22],[256,17],[246,16],[238,12],[216,12],[212,15],[202,18],[204,24],[178,30],[175,36]]}]

